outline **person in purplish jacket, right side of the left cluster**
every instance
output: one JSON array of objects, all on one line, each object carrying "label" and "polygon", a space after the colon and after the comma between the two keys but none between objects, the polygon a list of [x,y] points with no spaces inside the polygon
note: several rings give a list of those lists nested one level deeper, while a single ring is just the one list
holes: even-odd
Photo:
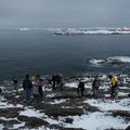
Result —
[{"label": "person in purplish jacket, right side of the left cluster", "polygon": [[42,92],[43,79],[40,78],[40,75],[37,75],[36,82],[38,86],[40,98],[42,98],[43,96],[43,92]]}]

